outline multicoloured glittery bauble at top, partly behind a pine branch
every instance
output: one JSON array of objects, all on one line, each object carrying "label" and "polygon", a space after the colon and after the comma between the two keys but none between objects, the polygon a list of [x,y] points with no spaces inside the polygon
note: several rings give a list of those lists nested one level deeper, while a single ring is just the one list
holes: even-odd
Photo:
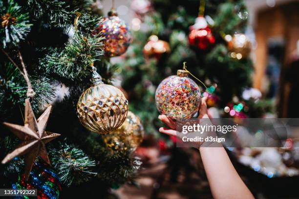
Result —
[{"label": "multicoloured glittery bauble at top, partly behind a pine branch", "polygon": [[124,20],[117,17],[117,12],[113,9],[108,13],[108,17],[99,23],[92,32],[93,35],[100,33],[105,36],[105,52],[109,57],[124,54],[132,41],[128,25]]}]

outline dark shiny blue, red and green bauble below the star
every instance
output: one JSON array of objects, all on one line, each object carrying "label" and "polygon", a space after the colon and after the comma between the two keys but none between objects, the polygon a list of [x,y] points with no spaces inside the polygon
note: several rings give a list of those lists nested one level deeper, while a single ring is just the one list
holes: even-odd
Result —
[{"label": "dark shiny blue, red and green bauble below the star", "polygon": [[29,179],[19,176],[12,189],[37,189],[37,199],[58,199],[61,182],[49,164],[39,159],[33,164]]}]

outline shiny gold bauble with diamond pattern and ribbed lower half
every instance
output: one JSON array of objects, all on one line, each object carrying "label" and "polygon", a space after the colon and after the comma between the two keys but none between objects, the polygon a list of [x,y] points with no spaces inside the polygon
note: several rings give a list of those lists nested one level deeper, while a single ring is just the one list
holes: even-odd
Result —
[{"label": "shiny gold bauble with diamond pattern and ribbed lower half", "polygon": [[85,90],[77,103],[78,117],[86,129],[107,134],[122,125],[128,114],[128,100],[115,86],[104,84],[93,70],[93,84]]}]

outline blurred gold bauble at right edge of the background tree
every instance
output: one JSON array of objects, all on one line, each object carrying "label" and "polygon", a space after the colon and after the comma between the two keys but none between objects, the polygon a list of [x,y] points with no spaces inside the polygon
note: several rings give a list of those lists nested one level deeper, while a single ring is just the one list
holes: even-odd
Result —
[{"label": "blurred gold bauble at right edge of the background tree", "polygon": [[[225,38],[229,38],[225,36]],[[244,34],[235,34],[231,40],[228,41],[228,50],[230,56],[237,60],[247,58],[251,51],[251,43]]]}]

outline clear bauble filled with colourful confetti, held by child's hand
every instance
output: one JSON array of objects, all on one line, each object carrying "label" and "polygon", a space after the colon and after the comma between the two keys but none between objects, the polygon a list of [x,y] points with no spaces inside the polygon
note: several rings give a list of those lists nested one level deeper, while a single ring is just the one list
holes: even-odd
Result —
[{"label": "clear bauble filled with colourful confetti, held by child's hand", "polygon": [[186,70],[163,80],[155,94],[159,112],[171,119],[190,119],[199,109],[200,90]]}]

